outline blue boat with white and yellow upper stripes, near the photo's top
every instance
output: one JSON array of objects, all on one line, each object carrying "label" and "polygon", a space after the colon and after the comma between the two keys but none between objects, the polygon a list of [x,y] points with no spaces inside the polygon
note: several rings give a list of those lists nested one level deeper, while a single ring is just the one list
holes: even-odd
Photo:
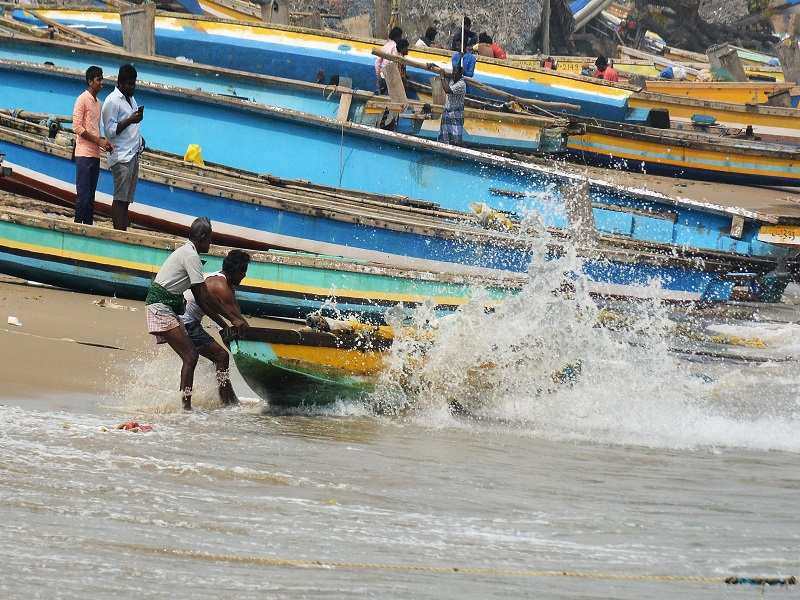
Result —
[{"label": "blue boat with white and yellow upper stripes, near the photo's top", "polygon": [[[15,18],[36,23],[34,15],[14,11]],[[119,15],[112,11],[37,11],[64,25],[91,27],[95,35],[121,43]],[[347,77],[361,89],[375,86],[374,58],[371,51],[381,44],[335,34],[330,31],[288,26],[213,20],[191,15],[161,13],[156,16],[157,50],[168,56],[181,56],[196,62],[226,68],[247,69],[275,76],[316,81]],[[409,57],[448,65],[450,53],[435,48],[412,48]],[[409,69],[414,81],[428,83],[431,74]],[[508,61],[479,57],[476,79],[513,95],[542,101],[579,106],[572,112],[585,117],[631,124],[651,123],[652,109],[666,110],[674,120],[691,123],[693,118],[713,119],[726,127],[753,127],[756,133],[800,137],[797,109],[711,102],[642,91],[642,88],[616,84],[537,68],[521,68]],[[482,92],[478,92],[481,95]]]}]

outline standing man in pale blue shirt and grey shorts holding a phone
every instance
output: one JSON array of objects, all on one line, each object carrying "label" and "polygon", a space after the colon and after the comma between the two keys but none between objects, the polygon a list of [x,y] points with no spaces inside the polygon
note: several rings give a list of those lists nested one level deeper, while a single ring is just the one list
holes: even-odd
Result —
[{"label": "standing man in pale blue shirt and grey shorts holding a phone", "polygon": [[128,228],[128,207],[133,202],[136,181],[139,179],[139,155],[144,140],[139,132],[144,119],[144,106],[136,104],[136,69],[131,64],[122,65],[117,76],[117,87],[103,102],[103,130],[114,145],[108,157],[108,167],[114,176],[114,200],[111,218],[114,229]]}]

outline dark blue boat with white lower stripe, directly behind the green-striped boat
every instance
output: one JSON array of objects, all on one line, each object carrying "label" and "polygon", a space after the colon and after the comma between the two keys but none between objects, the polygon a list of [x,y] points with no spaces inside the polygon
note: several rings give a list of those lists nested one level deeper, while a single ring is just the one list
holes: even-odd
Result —
[{"label": "dark blue boat with white lower stripe, directly behind the green-striped boat", "polygon": [[[58,133],[51,139],[44,126],[0,115],[0,152],[8,155],[7,165],[13,170],[0,181],[0,187],[74,206],[71,142],[70,135]],[[105,166],[98,190],[96,206],[109,212],[112,181]],[[596,296],[724,301],[734,285],[728,274],[750,273],[756,283],[775,269],[785,253],[755,237],[725,252],[698,251],[672,239],[678,232],[677,239],[682,240],[685,227],[674,210],[630,208],[625,212],[608,205],[584,207],[584,214],[593,212],[608,219],[606,211],[615,219],[606,227],[614,223],[617,230],[601,232],[595,245],[581,250],[585,283]],[[513,224],[507,231],[487,230],[474,213],[262,177],[219,165],[198,166],[153,151],[142,156],[137,198],[130,214],[137,224],[183,235],[196,215],[205,214],[212,219],[215,239],[225,244],[324,252],[395,268],[469,277],[527,272],[536,257],[534,242],[540,235]],[[589,218],[593,220],[594,214]],[[732,218],[733,213],[729,214]],[[505,215],[499,216],[507,220]],[[738,213],[735,216],[743,219]],[[718,226],[724,222],[725,217],[716,221]],[[744,231],[744,223],[742,228]],[[749,236],[749,224],[746,229]],[[569,243],[572,232],[551,227],[548,234],[555,244],[548,252],[557,257],[563,253],[559,244]],[[656,234],[662,241],[635,239]],[[717,244],[705,230],[704,235]]]}]

